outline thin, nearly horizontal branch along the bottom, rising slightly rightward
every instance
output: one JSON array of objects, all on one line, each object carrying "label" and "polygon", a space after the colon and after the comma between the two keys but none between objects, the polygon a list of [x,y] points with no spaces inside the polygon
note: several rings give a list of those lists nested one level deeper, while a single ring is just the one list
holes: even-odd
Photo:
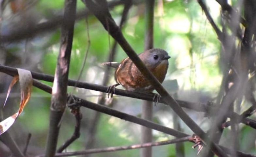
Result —
[{"label": "thin, nearly horizontal branch along the bottom, rising slightly rightward", "polygon": [[[60,156],[74,156],[74,155],[85,155],[85,154],[93,154],[93,153],[103,153],[103,152],[112,152],[112,151],[120,151],[120,150],[131,150],[131,149],[140,149],[140,148],[147,148],[147,147],[154,147],[154,146],[162,146],[186,141],[192,141],[193,138],[191,136],[188,137],[181,137],[177,139],[167,140],[167,141],[160,141],[160,142],[148,142],[143,144],[135,144],[130,146],[118,146],[118,147],[107,147],[107,148],[98,148],[98,149],[89,149],[83,151],[71,151],[65,153],[56,153],[56,157]],[[43,157],[43,155],[38,155],[36,157]]]}]

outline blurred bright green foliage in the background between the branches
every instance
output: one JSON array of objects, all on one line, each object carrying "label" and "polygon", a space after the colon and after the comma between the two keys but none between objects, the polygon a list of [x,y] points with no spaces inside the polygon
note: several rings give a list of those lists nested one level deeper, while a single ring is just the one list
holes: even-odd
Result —
[{"label": "blurred bright green foliage in the background between the branches", "polygon": [[[159,0],[156,1],[155,4],[154,47],[167,50],[172,57],[169,59],[169,69],[164,86],[166,86],[171,93],[177,92],[179,89],[179,98],[188,99],[193,102],[200,102],[201,99],[205,100],[209,98],[207,100],[211,100],[211,98],[215,98],[219,91],[222,79],[221,67],[219,67],[219,52],[221,47],[216,33],[202,13],[197,1],[165,0],[163,1],[163,7],[161,2],[162,1]],[[234,0],[232,3],[236,3],[236,1]],[[215,1],[210,0],[207,1],[207,4],[208,6],[211,6],[209,8],[210,13],[217,25],[220,26],[220,6]],[[63,0],[40,0],[29,8],[29,12],[32,13],[30,15],[33,15],[33,18],[37,19],[37,22],[45,21],[53,16],[60,15],[63,6]],[[81,1],[78,1],[77,10],[82,10],[84,8],[84,4]],[[111,14],[117,23],[120,21],[122,9],[122,6],[118,6],[111,10]],[[24,20],[23,14],[11,13],[9,5],[5,8],[3,17],[1,25],[2,34],[7,34],[12,28],[18,27],[17,25],[19,23],[22,25]],[[29,16],[27,18],[29,18]],[[30,20],[33,20],[33,18]],[[129,12],[126,25],[123,28],[123,33],[137,53],[141,53],[144,50],[144,22],[144,5],[133,6]],[[89,16],[88,23],[89,25],[87,26],[85,19],[83,19],[77,21],[75,24],[69,78],[77,79],[82,68],[83,60],[88,48],[88,27],[91,45],[89,47],[85,67],[82,71],[81,81],[102,84],[104,67],[101,66],[101,63],[108,61],[109,49],[114,41],[109,37],[108,33],[95,17]],[[59,52],[59,41],[60,29],[58,28],[54,31],[41,33],[26,41],[7,44],[5,45],[6,60],[0,64],[54,75]],[[115,61],[120,62],[126,57],[126,54],[120,46],[118,46]],[[111,76],[109,85],[115,83],[113,72],[114,70],[109,73]],[[175,80],[175,83],[170,80]],[[6,84],[8,85],[8,83],[5,82],[5,80],[2,80],[2,77],[1,81],[0,89],[2,95],[0,104],[3,104],[2,102],[4,102],[5,93],[7,91]],[[43,83],[46,82],[43,81]],[[52,85],[52,83],[46,84]],[[72,91],[73,87],[69,87],[69,92]],[[19,92],[19,89],[14,89],[11,93],[15,92]],[[101,95],[100,92],[85,89],[76,89],[74,94],[93,102],[97,102],[99,95]],[[8,102],[7,106],[14,107],[9,111],[6,108],[4,109],[5,117],[16,111],[16,109],[13,108],[16,106],[18,108],[17,101],[19,100],[19,95],[14,96],[11,99],[12,100]],[[24,109],[24,113],[9,130],[12,135],[15,135],[15,140],[18,141],[21,148],[24,148],[27,133],[32,133],[28,153],[44,153],[49,127],[50,99],[50,94],[47,94],[40,89],[33,88],[32,98]],[[115,103],[114,108],[120,111],[125,111],[133,115],[140,115],[141,100],[114,96],[113,103]],[[68,151],[85,149],[88,127],[94,111],[82,109],[82,113],[81,136],[68,147]],[[154,113],[154,119],[158,123],[169,127],[173,126],[171,118],[172,111],[169,107],[159,104],[154,108]],[[193,111],[189,111],[188,113],[198,124],[200,124],[200,126],[207,130],[206,128],[209,127],[210,123],[208,123],[207,118],[203,117],[203,114]],[[191,134],[191,131],[184,125],[184,123],[181,122],[181,124],[184,132]],[[66,111],[60,129],[58,146],[60,146],[68,137],[72,136],[74,125],[74,117],[69,111]],[[97,125],[98,131],[95,137],[95,148],[140,143],[139,125],[131,124],[108,115],[101,116],[100,123]],[[242,125],[241,128],[241,135],[255,135],[254,130]],[[224,139],[229,138],[226,130],[223,134]],[[156,141],[173,138],[157,131],[154,132],[153,135],[154,140]],[[17,137],[22,138],[19,139]],[[255,152],[253,147],[247,147],[247,140],[250,139],[250,136],[241,136],[240,139],[243,145],[241,150]],[[251,143],[254,146],[253,142]],[[191,149],[191,146],[191,143],[185,143],[186,156],[197,156],[197,151]],[[92,154],[91,156],[139,156],[139,150],[98,153]],[[174,157],[175,146],[167,145],[154,147],[153,156]]]}]

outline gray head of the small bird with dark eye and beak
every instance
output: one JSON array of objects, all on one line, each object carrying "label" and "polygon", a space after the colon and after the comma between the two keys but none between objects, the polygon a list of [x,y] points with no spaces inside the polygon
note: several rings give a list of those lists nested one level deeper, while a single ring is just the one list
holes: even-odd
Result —
[{"label": "gray head of the small bird with dark eye and beak", "polygon": [[148,68],[155,68],[162,61],[167,61],[170,58],[165,50],[153,48],[139,55],[139,58],[146,64]]}]

